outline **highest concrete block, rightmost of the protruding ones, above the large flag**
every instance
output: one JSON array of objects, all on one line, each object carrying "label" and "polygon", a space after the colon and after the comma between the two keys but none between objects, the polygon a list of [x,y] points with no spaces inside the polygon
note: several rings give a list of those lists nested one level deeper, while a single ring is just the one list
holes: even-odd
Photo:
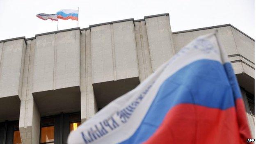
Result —
[{"label": "highest concrete block, rightmost of the protruding ones, above the large flag", "polygon": [[144,18],[149,41],[152,70],[155,71],[175,53],[169,14],[145,16]]}]

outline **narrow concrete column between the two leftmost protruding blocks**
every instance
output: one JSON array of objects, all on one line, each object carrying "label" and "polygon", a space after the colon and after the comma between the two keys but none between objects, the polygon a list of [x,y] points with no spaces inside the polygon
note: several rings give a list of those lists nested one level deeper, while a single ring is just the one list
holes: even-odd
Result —
[{"label": "narrow concrete column between the two leftmost protruding blocks", "polygon": [[40,114],[32,96],[32,76],[35,40],[27,42],[21,94],[19,130],[23,144],[38,144]]}]

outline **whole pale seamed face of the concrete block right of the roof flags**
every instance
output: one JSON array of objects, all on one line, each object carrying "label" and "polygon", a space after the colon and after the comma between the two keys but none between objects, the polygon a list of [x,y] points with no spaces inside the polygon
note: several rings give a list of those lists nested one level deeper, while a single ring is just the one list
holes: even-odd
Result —
[{"label": "whole pale seamed face of the concrete block right of the roof flags", "polygon": [[91,27],[92,82],[139,76],[133,21]]}]

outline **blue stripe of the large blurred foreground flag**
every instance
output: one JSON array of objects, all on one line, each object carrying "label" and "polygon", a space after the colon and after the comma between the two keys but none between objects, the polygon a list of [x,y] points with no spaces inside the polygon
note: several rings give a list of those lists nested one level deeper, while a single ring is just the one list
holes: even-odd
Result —
[{"label": "blue stripe of the large blurred foreground flag", "polygon": [[241,98],[241,94],[230,63],[222,65],[213,60],[198,60],[163,82],[139,128],[120,144],[146,141],[175,105],[186,103],[226,110],[235,106],[237,98]]}]

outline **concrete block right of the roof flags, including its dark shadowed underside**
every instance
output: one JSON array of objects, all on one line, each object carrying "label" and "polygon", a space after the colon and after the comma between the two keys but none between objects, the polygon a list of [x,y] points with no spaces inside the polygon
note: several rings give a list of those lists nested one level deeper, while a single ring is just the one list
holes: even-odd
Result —
[{"label": "concrete block right of the roof flags, including its dark shadowed underside", "polygon": [[126,19],[90,28],[92,84],[101,109],[139,85],[135,27]]}]

